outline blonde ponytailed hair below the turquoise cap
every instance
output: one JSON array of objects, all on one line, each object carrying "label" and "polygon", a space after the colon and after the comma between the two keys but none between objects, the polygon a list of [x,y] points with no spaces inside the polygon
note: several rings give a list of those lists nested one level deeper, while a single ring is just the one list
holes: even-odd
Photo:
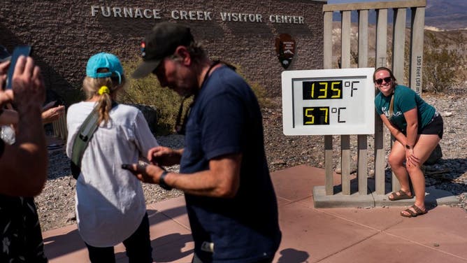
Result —
[{"label": "blonde ponytailed hair below the turquoise cap", "polygon": [[[102,69],[102,72],[105,72],[106,69]],[[119,84],[118,78],[90,78],[85,77],[82,80],[82,90],[86,94],[86,99],[92,99],[94,96],[99,96],[99,100],[97,102],[97,109],[99,112],[99,119],[97,123],[101,124],[104,122],[104,125],[110,120],[109,112],[112,109],[112,97],[115,92],[120,90],[125,85],[125,78],[121,76],[122,82]],[[99,95],[99,89],[102,86],[107,86],[110,90],[110,93],[103,93]]]}]

